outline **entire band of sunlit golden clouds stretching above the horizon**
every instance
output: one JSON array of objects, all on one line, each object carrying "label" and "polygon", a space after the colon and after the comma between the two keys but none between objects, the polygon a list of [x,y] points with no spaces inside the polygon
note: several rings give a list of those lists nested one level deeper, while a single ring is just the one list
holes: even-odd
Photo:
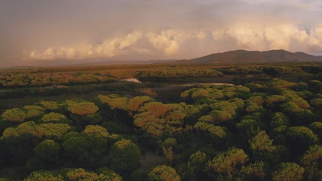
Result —
[{"label": "entire band of sunlit golden clouds stretching above the horizon", "polygon": [[[196,46],[204,48],[197,49]],[[286,49],[288,51],[319,53],[322,52],[322,27],[303,29],[303,27],[292,23],[282,25],[236,23],[229,27],[207,30],[134,31],[123,36],[107,38],[97,45],[78,44],[57,48],[48,47],[42,51],[33,50],[29,57],[34,60],[117,58],[123,55],[138,57],[146,55],[150,58],[163,55],[165,58],[182,58],[180,55],[184,53],[193,54],[191,50],[200,51],[200,54],[196,54],[197,56],[204,56],[201,53],[233,49],[259,51]]]}]

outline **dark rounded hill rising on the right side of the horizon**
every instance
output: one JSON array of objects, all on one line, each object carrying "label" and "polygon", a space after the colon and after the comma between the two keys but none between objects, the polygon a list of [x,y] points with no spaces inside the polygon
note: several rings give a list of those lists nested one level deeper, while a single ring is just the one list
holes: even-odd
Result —
[{"label": "dark rounded hill rising on the right side of the horizon", "polygon": [[322,62],[322,56],[312,56],[303,52],[292,53],[285,50],[246,51],[235,50],[214,53],[191,60],[179,60],[182,64],[220,64],[220,63],[251,63],[251,62]]}]

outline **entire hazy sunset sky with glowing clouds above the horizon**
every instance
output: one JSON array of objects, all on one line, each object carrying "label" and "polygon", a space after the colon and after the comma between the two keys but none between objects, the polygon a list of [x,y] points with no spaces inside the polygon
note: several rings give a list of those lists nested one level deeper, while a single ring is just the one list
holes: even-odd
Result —
[{"label": "entire hazy sunset sky with glowing clouds above the horizon", "polygon": [[322,0],[0,0],[0,67],[322,55]]}]

